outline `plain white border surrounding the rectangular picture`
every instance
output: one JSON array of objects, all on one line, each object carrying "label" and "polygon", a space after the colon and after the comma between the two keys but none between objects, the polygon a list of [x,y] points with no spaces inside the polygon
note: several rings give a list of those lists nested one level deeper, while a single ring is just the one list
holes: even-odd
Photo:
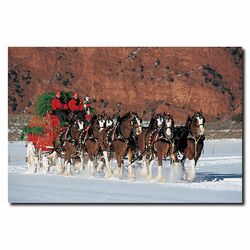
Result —
[{"label": "plain white border surrounding the rectangular picture", "polygon": [[[245,249],[249,245],[248,204],[10,206],[7,47],[242,46],[247,65],[250,44],[247,3],[241,0],[1,1],[1,249]],[[245,105],[249,107],[248,99],[246,95]],[[248,113],[246,108],[246,117]],[[248,138],[247,123],[245,128]],[[246,176],[247,163],[246,160]],[[245,189],[248,201],[247,185]]]}]

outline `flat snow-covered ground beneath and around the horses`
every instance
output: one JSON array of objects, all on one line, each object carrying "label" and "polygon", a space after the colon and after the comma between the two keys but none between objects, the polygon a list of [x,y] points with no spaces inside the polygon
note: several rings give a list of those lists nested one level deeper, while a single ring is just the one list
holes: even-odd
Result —
[{"label": "flat snow-covered ground beneath and around the horses", "polygon": [[[137,179],[65,177],[29,174],[24,162],[24,143],[9,143],[10,203],[241,203],[242,140],[206,141],[193,182],[171,182],[169,161],[164,161],[165,183]],[[114,165],[114,163],[113,163]],[[154,164],[154,171],[157,164]],[[125,171],[124,171],[125,172]],[[126,177],[126,173],[124,173]]]}]

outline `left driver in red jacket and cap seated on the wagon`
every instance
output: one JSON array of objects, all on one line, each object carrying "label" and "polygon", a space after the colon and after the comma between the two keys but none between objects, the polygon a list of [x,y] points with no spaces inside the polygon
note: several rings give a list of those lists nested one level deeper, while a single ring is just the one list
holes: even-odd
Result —
[{"label": "left driver in red jacket and cap seated on the wagon", "polygon": [[67,104],[64,104],[61,99],[61,92],[56,91],[56,96],[52,99],[51,102],[51,113],[58,116],[60,122],[67,122]]}]

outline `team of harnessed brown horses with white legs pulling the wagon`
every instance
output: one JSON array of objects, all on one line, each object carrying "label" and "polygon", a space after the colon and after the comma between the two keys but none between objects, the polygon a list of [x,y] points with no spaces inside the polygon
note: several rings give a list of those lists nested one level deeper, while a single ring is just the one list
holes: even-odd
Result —
[{"label": "team of harnessed brown horses with white legs pulling the wagon", "polygon": [[[67,129],[55,138],[53,149],[40,155],[42,160],[37,160],[36,149],[29,142],[27,159],[29,167],[36,163],[36,170],[43,165],[44,171],[49,172],[54,164],[58,173],[64,175],[86,168],[92,175],[102,171],[107,178],[122,177],[127,169],[128,179],[136,178],[134,166],[138,161],[142,167],[140,173],[152,179],[153,164],[157,160],[156,179],[163,182],[163,159],[170,157],[171,173],[181,169],[180,178],[192,181],[204,146],[204,124],[202,112],[189,116],[182,126],[175,126],[173,116],[165,113],[152,117],[148,127],[143,127],[142,120],[133,112],[126,113],[115,124],[102,115],[94,115],[90,124],[72,117]],[[116,159],[115,168],[112,159]],[[185,170],[187,159],[188,171]]]}]

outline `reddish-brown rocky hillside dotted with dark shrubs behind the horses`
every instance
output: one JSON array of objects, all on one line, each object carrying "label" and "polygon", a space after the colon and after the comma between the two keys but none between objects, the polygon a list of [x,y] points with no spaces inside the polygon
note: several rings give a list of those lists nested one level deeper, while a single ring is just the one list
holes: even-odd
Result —
[{"label": "reddish-brown rocky hillside dotted with dark shrubs behind the horses", "polygon": [[9,112],[49,90],[90,95],[98,112],[170,112],[183,121],[242,113],[241,48],[9,48]]}]

